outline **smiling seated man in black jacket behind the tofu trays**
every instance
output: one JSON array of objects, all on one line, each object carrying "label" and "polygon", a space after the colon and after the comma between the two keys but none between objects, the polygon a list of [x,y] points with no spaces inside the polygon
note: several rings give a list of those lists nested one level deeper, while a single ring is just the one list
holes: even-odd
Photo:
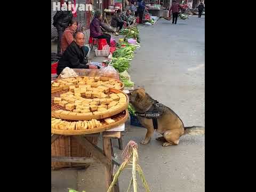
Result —
[{"label": "smiling seated man in black jacket behind the tofu trays", "polygon": [[74,34],[74,41],[70,43],[65,52],[62,54],[58,62],[57,75],[65,67],[69,68],[79,68],[79,69],[97,69],[97,66],[86,65],[87,62],[85,57],[89,52],[89,48],[84,46],[85,38],[82,32],[77,32]]}]

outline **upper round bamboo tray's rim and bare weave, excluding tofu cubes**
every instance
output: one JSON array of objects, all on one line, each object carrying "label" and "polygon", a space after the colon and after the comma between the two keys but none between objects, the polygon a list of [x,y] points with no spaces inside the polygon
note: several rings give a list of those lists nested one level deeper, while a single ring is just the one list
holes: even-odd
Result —
[{"label": "upper round bamboo tray's rim and bare weave, excluding tofu cubes", "polygon": [[61,107],[60,105],[55,104],[53,102],[53,100],[54,100],[54,97],[60,97],[60,94],[66,93],[66,92],[68,92],[68,90],[52,91],[52,94],[51,94],[51,97],[52,97],[52,101],[51,101],[51,103],[52,103],[52,106],[51,106],[52,117],[67,119],[67,120],[76,120],[76,121],[84,121],[84,120],[91,120],[91,119],[103,119],[103,118],[108,118],[108,117],[111,117],[111,116],[116,115],[118,113],[121,113],[123,110],[127,109],[128,105],[129,105],[129,97],[126,93],[124,93],[120,90],[110,88],[109,93],[123,93],[123,94],[125,94],[125,97],[126,97],[125,105],[123,105],[122,107],[120,107],[116,110],[113,110],[113,111],[110,111],[110,112],[107,112],[107,113],[104,113],[104,114],[100,114],[100,115],[77,116],[77,115],[63,115],[63,114],[54,113],[55,110],[59,110],[59,109],[65,110],[65,107]]}]

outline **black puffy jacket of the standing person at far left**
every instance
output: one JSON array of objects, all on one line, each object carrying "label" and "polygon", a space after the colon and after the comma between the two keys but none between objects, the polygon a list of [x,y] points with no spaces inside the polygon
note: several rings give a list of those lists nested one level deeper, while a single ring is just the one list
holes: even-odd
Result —
[{"label": "black puffy jacket of the standing person at far left", "polygon": [[57,11],[53,17],[52,25],[57,29],[65,30],[68,27],[69,21],[73,18],[71,11]]}]

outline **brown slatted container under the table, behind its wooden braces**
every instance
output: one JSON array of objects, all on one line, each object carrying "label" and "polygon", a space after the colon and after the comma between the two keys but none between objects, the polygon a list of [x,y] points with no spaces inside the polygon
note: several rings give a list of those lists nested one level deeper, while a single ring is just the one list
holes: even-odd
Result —
[{"label": "brown slatted container under the table, behind its wooden braces", "polygon": [[[94,145],[98,144],[98,137],[86,137]],[[60,135],[51,146],[52,156],[64,157],[93,157],[89,151],[84,149],[75,138],[70,136]],[[86,168],[89,164],[81,163],[65,163],[65,162],[52,162],[52,170],[69,169],[69,168]]]}]

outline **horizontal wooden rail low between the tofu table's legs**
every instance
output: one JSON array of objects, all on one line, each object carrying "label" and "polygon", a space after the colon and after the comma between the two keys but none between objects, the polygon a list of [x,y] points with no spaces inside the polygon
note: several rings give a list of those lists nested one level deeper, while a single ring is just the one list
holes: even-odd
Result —
[{"label": "horizontal wooden rail low between the tofu table's legs", "polygon": [[90,157],[56,157],[52,156],[52,162],[67,162],[67,163],[100,163]]}]

